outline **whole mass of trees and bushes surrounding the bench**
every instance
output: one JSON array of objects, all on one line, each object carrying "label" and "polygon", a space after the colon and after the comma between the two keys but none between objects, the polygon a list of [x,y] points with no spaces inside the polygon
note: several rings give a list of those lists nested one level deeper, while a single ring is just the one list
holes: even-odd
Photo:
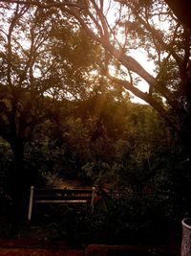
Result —
[{"label": "whole mass of trees and bushes surrounding the bench", "polygon": [[[30,185],[77,179],[125,197],[92,216],[44,209],[36,220],[48,239],[179,240],[191,210],[189,30],[163,1],[115,1],[113,27],[102,1],[11,2],[0,1],[0,236],[26,236]],[[155,78],[129,56],[136,49]]]}]

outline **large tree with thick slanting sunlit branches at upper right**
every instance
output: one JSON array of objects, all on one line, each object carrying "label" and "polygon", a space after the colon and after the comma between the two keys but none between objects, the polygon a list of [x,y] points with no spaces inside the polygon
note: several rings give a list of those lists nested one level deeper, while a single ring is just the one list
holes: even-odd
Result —
[{"label": "large tree with thick slanting sunlit branches at upper right", "polygon": [[[165,3],[156,1],[1,1],[55,8],[74,17],[88,35],[105,49],[105,71],[110,81],[133,92],[152,105],[168,125],[180,135],[190,151],[191,92],[189,67],[190,32],[182,27]],[[115,9],[112,10],[112,6]],[[109,13],[113,15],[111,20]],[[114,19],[115,17],[115,19]],[[162,27],[165,24],[165,29]],[[155,73],[132,57],[132,50],[142,49],[153,61]],[[116,76],[108,73],[114,59]],[[119,76],[118,76],[119,74]],[[146,81],[149,92],[136,86],[136,79]],[[174,76],[176,74],[176,76]],[[168,76],[167,76],[168,75]],[[166,77],[167,76],[167,77]]]}]

